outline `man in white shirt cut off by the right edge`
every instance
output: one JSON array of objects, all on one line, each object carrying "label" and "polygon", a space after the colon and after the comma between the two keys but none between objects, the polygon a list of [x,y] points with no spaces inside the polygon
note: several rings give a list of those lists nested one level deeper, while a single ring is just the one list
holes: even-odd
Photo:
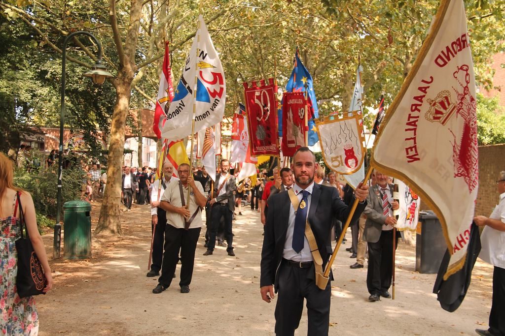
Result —
[{"label": "man in white shirt cut off by the right edge", "polygon": [[500,200],[489,218],[477,216],[475,224],[483,226],[479,257],[492,264],[493,298],[489,312],[489,329],[475,329],[479,335],[505,335],[505,170],[499,173],[496,187]]}]

